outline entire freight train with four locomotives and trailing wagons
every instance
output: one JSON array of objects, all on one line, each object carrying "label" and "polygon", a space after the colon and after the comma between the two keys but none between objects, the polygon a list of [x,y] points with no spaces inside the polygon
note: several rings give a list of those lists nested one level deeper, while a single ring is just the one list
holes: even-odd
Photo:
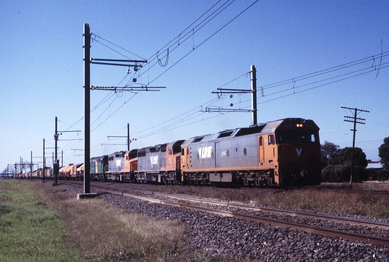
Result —
[{"label": "entire freight train with four locomotives and trailing wagons", "polygon": [[[165,184],[312,185],[321,181],[320,147],[314,121],[285,118],[94,157],[90,176]],[[83,164],[71,164],[60,168],[58,178],[83,176]]]}]

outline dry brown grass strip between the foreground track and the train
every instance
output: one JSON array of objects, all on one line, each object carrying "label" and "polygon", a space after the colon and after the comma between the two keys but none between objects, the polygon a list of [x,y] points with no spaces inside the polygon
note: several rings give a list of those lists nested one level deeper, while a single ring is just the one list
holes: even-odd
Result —
[{"label": "dry brown grass strip between the foreground track and the train", "polygon": [[[346,184],[322,185],[321,187],[347,188]],[[353,184],[355,189],[388,190],[389,183]],[[190,193],[202,197],[226,201],[241,201],[265,206],[288,209],[304,209],[341,214],[369,215],[389,218],[389,197],[369,194],[348,194],[347,192],[320,192],[279,189],[233,189],[202,190],[201,187],[171,187],[169,193]]]}]

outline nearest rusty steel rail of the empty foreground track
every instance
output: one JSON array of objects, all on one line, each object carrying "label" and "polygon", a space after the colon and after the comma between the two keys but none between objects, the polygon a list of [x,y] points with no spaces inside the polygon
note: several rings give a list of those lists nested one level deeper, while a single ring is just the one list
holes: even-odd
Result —
[{"label": "nearest rusty steel rail of the empty foreground track", "polygon": [[127,197],[134,197],[137,199],[146,200],[146,201],[153,202],[153,203],[166,204],[166,205],[170,205],[170,206],[174,206],[174,207],[180,207],[180,208],[186,208],[186,209],[202,211],[202,212],[207,212],[207,213],[219,214],[219,215],[235,217],[235,218],[239,218],[239,219],[246,219],[246,220],[251,220],[254,222],[260,222],[263,224],[271,224],[274,226],[288,227],[291,229],[299,229],[299,230],[303,230],[303,231],[308,232],[308,233],[315,233],[315,234],[320,234],[320,235],[325,235],[325,236],[330,236],[330,237],[339,237],[339,238],[343,238],[343,239],[347,239],[347,240],[351,240],[351,241],[362,241],[362,242],[367,242],[369,244],[389,246],[389,238],[384,238],[384,237],[364,235],[364,234],[360,234],[360,233],[341,231],[341,230],[337,230],[337,229],[326,229],[326,228],[321,228],[321,227],[316,227],[316,226],[311,226],[311,225],[303,225],[303,224],[299,224],[299,223],[288,222],[288,221],[284,221],[284,220],[277,220],[277,219],[273,219],[273,218],[260,217],[260,216],[254,216],[254,215],[246,215],[246,214],[240,214],[240,213],[235,213],[235,212],[230,212],[230,211],[222,211],[222,210],[215,210],[215,209],[210,209],[210,208],[192,206],[192,205],[187,205],[187,204],[182,204],[182,203],[177,203],[177,202],[170,202],[170,201],[160,200],[160,199],[155,199],[155,198],[150,198],[150,197],[137,196],[137,195],[124,193],[124,192],[118,192],[118,191],[109,190],[109,189],[101,189],[101,188],[98,188],[95,186],[93,186],[91,188],[93,188],[95,190],[109,192],[112,194],[117,194],[117,195],[122,195],[122,196],[127,196]]}]

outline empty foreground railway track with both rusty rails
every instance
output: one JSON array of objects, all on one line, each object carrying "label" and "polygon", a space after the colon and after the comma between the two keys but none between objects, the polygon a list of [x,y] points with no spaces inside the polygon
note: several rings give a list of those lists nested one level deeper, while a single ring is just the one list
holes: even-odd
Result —
[{"label": "empty foreground railway track with both rusty rails", "polygon": [[[76,183],[76,182],[66,182],[66,183],[71,184],[71,185],[76,185],[76,186],[82,186],[82,184]],[[251,220],[251,221],[260,222],[260,223],[264,223],[264,224],[271,224],[271,225],[275,225],[275,226],[287,227],[287,228],[291,228],[291,229],[299,229],[299,230],[303,230],[303,231],[308,232],[308,233],[316,233],[316,234],[325,235],[325,236],[340,237],[340,238],[352,240],[352,241],[362,241],[362,242],[366,242],[369,244],[389,246],[389,238],[386,238],[386,237],[372,236],[372,235],[366,235],[366,234],[355,233],[355,232],[348,232],[348,231],[343,231],[343,230],[338,230],[338,229],[331,229],[331,228],[324,228],[324,227],[318,227],[318,226],[313,226],[313,225],[306,225],[306,224],[302,224],[302,223],[289,222],[286,220],[279,220],[279,219],[274,219],[274,218],[269,218],[269,217],[225,211],[225,210],[214,209],[214,208],[209,208],[209,207],[195,206],[195,205],[190,205],[190,204],[181,203],[181,202],[177,202],[177,201],[168,201],[168,200],[164,200],[164,199],[157,199],[155,197],[158,197],[158,196],[165,197],[165,198],[169,197],[170,199],[175,199],[175,200],[184,201],[184,202],[190,201],[190,202],[197,202],[197,203],[208,204],[208,205],[227,206],[227,207],[238,208],[238,209],[243,209],[243,210],[255,210],[255,211],[262,211],[262,212],[269,212],[269,213],[287,214],[290,216],[309,217],[309,218],[314,218],[314,219],[332,221],[335,223],[348,223],[351,225],[361,225],[361,226],[366,226],[366,227],[371,227],[371,228],[377,227],[377,228],[381,228],[381,229],[389,229],[389,224],[386,224],[386,223],[358,220],[358,219],[344,218],[344,217],[334,217],[334,216],[320,215],[320,214],[313,214],[313,213],[303,213],[303,212],[295,212],[295,211],[287,211],[287,210],[279,210],[279,209],[271,209],[271,208],[260,208],[260,207],[254,207],[254,206],[249,206],[249,205],[233,204],[233,203],[226,203],[226,202],[219,202],[219,201],[209,201],[209,200],[202,200],[202,199],[195,199],[195,198],[188,198],[188,197],[178,197],[178,196],[172,196],[169,194],[128,189],[128,188],[118,188],[118,187],[107,186],[107,185],[104,185],[104,186],[91,185],[91,189],[94,189],[97,191],[109,192],[112,194],[118,194],[118,195],[127,196],[127,197],[134,197],[137,199],[146,200],[146,201],[154,202],[154,203],[167,204],[167,205],[180,207],[180,208],[203,211],[203,212],[219,214],[219,215],[223,215],[223,216],[236,217],[239,219],[246,219],[246,220]],[[128,192],[135,192],[135,194],[130,194]],[[148,195],[148,197],[140,196],[139,194],[144,194],[144,195],[146,194],[146,195]]]}]

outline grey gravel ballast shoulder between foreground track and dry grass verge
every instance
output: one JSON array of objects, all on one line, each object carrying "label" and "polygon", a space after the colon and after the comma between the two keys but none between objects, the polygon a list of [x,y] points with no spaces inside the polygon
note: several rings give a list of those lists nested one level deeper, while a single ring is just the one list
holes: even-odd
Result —
[{"label": "grey gravel ballast shoulder between foreground track and dry grass verge", "polygon": [[[68,191],[80,188],[62,185]],[[232,217],[150,203],[132,197],[101,194],[99,198],[128,210],[160,219],[179,221],[186,226],[187,249],[253,261],[356,261],[384,262],[389,248],[310,234]]]}]

